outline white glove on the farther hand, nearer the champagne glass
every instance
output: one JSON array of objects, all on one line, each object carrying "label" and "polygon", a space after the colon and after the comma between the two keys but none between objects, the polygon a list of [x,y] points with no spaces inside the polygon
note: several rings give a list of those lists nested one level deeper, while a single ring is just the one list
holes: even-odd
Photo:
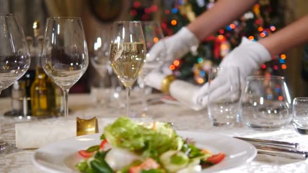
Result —
[{"label": "white glove on the farther hand, nearer the champagne glass", "polygon": [[176,34],[157,42],[148,52],[147,61],[153,61],[161,52],[167,51],[166,61],[180,58],[189,51],[196,51],[199,40],[193,32],[182,27]]}]

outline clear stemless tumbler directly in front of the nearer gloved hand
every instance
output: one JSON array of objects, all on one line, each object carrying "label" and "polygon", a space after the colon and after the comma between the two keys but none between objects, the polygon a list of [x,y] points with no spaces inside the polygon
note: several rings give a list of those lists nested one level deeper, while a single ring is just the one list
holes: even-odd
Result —
[{"label": "clear stemless tumbler directly in front of the nearer gloved hand", "polygon": [[240,70],[235,66],[213,67],[208,75],[208,115],[214,126],[233,126],[241,98]]}]

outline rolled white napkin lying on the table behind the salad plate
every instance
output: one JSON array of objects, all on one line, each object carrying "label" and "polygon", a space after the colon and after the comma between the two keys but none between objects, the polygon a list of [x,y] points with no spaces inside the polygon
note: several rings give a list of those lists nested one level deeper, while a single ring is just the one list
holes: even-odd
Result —
[{"label": "rolled white napkin lying on the table behind the salad plate", "polygon": [[[99,133],[117,118],[98,118]],[[135,122],[153,122],[152,118],[130,118]],[[76,120],[49,120],[16,123],[16,147],[40,148],[52,142],[76,136]]]}]

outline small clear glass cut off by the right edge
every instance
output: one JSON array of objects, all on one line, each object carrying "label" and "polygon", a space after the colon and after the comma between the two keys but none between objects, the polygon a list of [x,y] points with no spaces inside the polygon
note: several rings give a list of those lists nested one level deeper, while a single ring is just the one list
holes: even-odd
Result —
[{"label": "small clear glass cut off by the right edge", "polygon": [[292,111],[293,126],[299,134],[308,134],[308,98],[298,97],[293,99]]}]

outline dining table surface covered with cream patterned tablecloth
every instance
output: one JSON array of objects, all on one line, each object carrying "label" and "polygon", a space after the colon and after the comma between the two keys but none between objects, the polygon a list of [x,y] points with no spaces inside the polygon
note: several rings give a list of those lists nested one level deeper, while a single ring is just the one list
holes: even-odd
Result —
[{"label": "dining table surface covered with cream patterned tablecloth", "polygon": [[[138,97],[137,97],[138,98]],[[140,97],[139,97],[140,98]],[[255,131],[238,123],[230,127],[216,127],[211,124],[207,110],[192,110],[174,100],[168,100],[166,95],[150,94],[147,98],[147,109],[136,99],[132,99],[132,112],[135,117],[149,117],[155,121],[172,122],[176,130],[193,131],[203,134],[217,134],[227,137],[247,137],[255,139],[277,140],[299,143],[299,150],[308,151],[308,136],[296,133],[292,124],[278,131]],[[167,98],[167,99],[166,99]],[[68,99],[69,119],[76,117],[120,117],[125,115],[125,109],[121,104],[96,104],[93,95],[70,94]],[[125,103],[125,99],[123,99]],[[53,119],[64,119],[64,117],[31,118],[4,116],[11,110],[11,98],[1,98],[1,129],[2,138],[11,144],[15,144],[15,123],[46,121]],[[51,131],[56,129],[50,129]],[[44,139],[42,139],[44,140]],[[227,143],[224,145],[228,145]],[[14,149],[0,155],[0,172],[44,172],[32,163],[32,156],[36,149]],[[252,161],[222,170],[220,172],[308,172],[308,160],[299,160],[286,157],[257,154]]]}]

